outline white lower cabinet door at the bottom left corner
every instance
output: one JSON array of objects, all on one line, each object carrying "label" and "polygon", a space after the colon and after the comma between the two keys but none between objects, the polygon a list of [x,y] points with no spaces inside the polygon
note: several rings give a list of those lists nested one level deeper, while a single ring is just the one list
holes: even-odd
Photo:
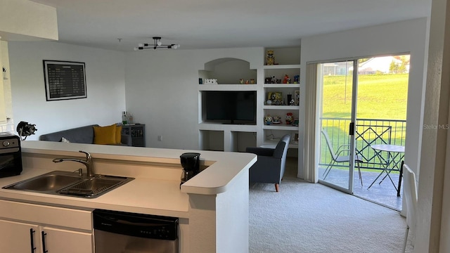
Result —
[{"label": "white lower cabinet door at the bottom left corner", "polygon": [[0,252],[41,252],[39,227],[27,223],[0,220]]}]

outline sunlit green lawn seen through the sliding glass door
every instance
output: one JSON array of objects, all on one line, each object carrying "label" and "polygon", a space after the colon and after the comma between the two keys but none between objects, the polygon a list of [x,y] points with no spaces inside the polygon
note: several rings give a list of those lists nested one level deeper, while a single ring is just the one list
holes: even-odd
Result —
[{"label": "sunlit green lawn seen through the sliding glass door", "polygon": [[[408,97],[408,74],[361,74],[358,82],[358,103],[356,119],[406,119]],[[323,116],[329,118],[350,118],[352,105],[352,78],[345,76],[323,77]],[[356,122],[360,124],[360,122]],[[378,124],[378,123],[372,123]],[[387,123],[385,123],[387,124]],[[406,128],[392,126],[392,143],[401,143]],[[324,121],[330,134],[333,148],[348,143],[348,122]],[[403,136],[403,137],[401,137]],[[364,136],[369,138],[369,136]],[[356,148],[362,143],[357,141]],[[371,150],[373,154],[373,150]],[[321,162],[328,164],[330,154],[323,140]],[[326,154],[326,155],[325,155]],[[371,155],[368,154],[368,155]]]}]

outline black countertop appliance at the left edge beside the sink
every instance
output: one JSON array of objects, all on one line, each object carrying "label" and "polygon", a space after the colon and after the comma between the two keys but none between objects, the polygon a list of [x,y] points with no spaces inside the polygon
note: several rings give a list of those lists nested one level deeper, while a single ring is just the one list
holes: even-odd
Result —
[{"label": "black countertop appliance at the left edge beside the sink", "polygon": [[22,172],[22,149],[20,138],[0,133],[0,178],[17,176]]}]

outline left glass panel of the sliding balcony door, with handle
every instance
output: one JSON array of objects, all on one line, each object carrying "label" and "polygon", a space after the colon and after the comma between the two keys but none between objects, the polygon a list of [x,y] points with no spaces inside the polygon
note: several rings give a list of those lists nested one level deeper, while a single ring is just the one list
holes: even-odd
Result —
[{"label": "left glass panel of the sliding balcony door, with handle", "polygon": [[354,182],[357,67],[356,60],[317,65],[319,182],[347,193]]}]

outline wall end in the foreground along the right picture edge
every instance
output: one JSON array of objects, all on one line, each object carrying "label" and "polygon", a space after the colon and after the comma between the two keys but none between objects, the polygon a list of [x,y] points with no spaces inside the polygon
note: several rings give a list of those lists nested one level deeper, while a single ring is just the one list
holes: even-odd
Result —
[{"label": "wall end in the foreground along the right picture edge", "polygon": [[450,1],[433,0],[414,252],[450,252]]}]

